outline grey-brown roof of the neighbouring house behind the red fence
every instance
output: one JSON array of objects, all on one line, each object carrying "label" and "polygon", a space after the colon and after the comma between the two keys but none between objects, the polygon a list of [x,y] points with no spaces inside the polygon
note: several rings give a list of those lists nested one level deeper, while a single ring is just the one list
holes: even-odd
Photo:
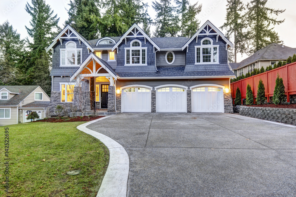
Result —
[{"label": "grey-brown roof of the neighbouring house behind the red fence", "polygon": [[281,44],[271,43],[238,63],[240,65],[237,68],[232,68],[230,63],[229,65],[232,69],[240,69],[259,60],[286,60],[289,56],[293,56],[294,53],[296,53],[296,48],[283,47]]}]

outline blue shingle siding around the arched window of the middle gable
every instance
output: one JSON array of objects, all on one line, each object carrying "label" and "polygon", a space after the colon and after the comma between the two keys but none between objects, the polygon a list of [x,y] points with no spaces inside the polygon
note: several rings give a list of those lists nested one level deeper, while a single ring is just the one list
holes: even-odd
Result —
[{"label": "blue shingle siding around the arched window of the middle gable", "polygon": [[[124,66],[125,64],[125,50],[124,48],[130,47],[130,43],[132,40],[140,40],[142,43],[142,47],[147,47],[147,66]],[[153,53],[153,45],[143,37],[137,37],[137,38],[126,38],[126,44],[125,40],[123,40],[120,45],[118,46],[118,53],[117,53],[117,66],[115,69],[115,72],[120,73],[133,73],[133,72],[156,72],[155,69],[155,53]]]}]

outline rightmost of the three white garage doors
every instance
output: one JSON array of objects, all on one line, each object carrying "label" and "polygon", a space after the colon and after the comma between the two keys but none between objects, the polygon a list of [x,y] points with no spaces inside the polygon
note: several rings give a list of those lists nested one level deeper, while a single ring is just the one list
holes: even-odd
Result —
[{"label": "rightmost of the three white garage doors", "polygon": [[198,87],[192,89],[192,112],[224,113],[223,89],[220,87]]}]

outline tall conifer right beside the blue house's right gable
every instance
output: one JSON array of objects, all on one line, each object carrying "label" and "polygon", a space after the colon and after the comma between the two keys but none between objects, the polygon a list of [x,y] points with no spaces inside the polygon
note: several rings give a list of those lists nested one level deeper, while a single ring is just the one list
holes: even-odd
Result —
[{"label": "tall conifer right beside the blue house's right gable", "polygon": [[246,24],[241,12],[245,9],[240,0],[227,0],[226,22],[220,27],[227,30],[227,35],[234,38],[234,62],[237,62],[237,53],[244,53],[246,50],[246,36],[244,28]]}]

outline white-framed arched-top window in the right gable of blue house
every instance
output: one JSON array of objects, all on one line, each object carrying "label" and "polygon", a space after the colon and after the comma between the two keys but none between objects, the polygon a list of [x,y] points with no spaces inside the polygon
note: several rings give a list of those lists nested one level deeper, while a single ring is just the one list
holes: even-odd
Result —
[{"label": "white-framed arched-top window in the right gable of blue house", "polygon": [[195,64],[219,64],[219,45],[213,45],[211,38],[201,40],[200,46],[195,46]]}]

